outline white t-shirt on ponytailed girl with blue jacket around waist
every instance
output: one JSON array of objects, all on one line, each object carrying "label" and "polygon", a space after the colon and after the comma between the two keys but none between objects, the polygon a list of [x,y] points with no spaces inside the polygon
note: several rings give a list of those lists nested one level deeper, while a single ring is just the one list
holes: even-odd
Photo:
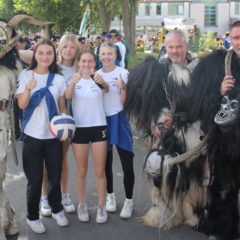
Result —
[{"label": "white t-shirt on ponytailed girl with blue jacket around waist", "polygon": [[109,91],[104,93],[104,109],[107,116],[115,115],[123,110],[120,99],[120,89],[115,85],[117,79],[122,76],[125,83],[128,81],[128,70],[116,66],[112,72],[105,73],[102,69],[97,71],[109,85]]}]

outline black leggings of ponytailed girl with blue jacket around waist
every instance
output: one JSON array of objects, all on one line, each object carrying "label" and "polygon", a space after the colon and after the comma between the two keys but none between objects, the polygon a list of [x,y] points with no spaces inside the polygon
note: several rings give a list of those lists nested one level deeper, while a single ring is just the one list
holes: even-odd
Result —
[{"label": "black leggings of ponytailed girl with blue jacket around waist", "polygon": [[[134,169],[133,169],[133,156],[134,154],[130,151],[122,149],[116,146],[118,155],[121,160],[123,169],[123,185],[125,188],[126,198],[132,199],[133,185],[134,185]],[[112,172],[113,153],[112,151],[107,152],[107,161],[105,167],[105,173],[107,178],[107,192],[113,193],[113,172]]]}]

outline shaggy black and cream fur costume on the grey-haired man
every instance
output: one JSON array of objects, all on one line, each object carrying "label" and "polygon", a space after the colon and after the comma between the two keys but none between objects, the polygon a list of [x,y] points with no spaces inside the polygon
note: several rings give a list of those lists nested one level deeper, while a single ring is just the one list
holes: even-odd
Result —
[{"label": "shaggy black and cream fur costume on the grey-haired man", "polygon": [[[207,203],[204,144],[191,152],[201,144],[202,132],[199,122],[189,122],[186,114],[191,66],[195,63],[182,67],[169,59],[159,63],[147,58],[129,75],[125,111],[145,137],[152,136],[153,126],[160,124],[161,129],[159,149],[150,152],[145,164],[152,183],[152,206],[142,220],[150,226],[197,226]],[[162,123],[169,114],[174,124],[167,130]],[[186,152],[191,153],[182,155]]]}]

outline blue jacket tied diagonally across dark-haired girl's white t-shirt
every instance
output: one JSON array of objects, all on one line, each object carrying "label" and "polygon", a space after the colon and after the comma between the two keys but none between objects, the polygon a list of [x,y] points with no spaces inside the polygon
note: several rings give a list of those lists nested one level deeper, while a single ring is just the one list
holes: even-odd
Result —
[{"label": "blue jacket tied diagonally across dark-haired girl's white t-shirt", "polygon": [[55,73],[49,72],[47,79],[47,86],[37,90],[30,98],[28,106],[23,110],[23,119],[22,119],[22,133],[30,120],[35,108],[40,104],[43,97],[46,99],[47,108],[48,108],[48,117],[49,121],[55,116],[58,115],[57,106],[55,100],[49,91],[48,87],[51,85],[54,79]]}]

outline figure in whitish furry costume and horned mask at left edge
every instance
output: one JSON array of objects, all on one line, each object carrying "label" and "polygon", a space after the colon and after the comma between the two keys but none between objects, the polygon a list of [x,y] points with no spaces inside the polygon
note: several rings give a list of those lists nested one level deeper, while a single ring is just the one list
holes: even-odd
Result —
[{"label": "figure in whitish furry costume and horned mask at left edge", "polygon": [[13,156],[17,163],[13,115],[13,98],[16,77],[20,70],[15,43],[17,34],[14,28],[22,21],[44,25],[49,22],[37,21],[26,15],[16,15],[8,23],[0,21],[0,239],[18,233],[15,212],[3,189],[6,174],[7,151],[12,142]]}]

